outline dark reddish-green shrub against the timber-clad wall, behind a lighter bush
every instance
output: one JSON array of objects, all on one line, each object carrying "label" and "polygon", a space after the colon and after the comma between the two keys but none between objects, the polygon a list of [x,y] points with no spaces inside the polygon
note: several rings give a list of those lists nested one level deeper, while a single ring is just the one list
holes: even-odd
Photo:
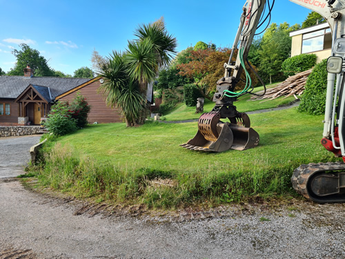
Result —
[{"label": "dark reddish-green shrub against the timber-clad wall, behind a lighter bush", "polygon": [[90,105],[86,102],[86,98],[77,93],[77,97],[69,105],[70,115],[73,119],[76,119],[77,127],[83,128],[88,124],[88,112],[90,108]]}]

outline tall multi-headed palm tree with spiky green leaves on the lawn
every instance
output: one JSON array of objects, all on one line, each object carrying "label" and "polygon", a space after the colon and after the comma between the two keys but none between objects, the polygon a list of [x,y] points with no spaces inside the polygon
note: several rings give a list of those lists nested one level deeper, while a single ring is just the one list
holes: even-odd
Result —
[{"label": "tall multi-headed palm tree with spiky green leaves on the lawn", "polygon": [[139,26],[135,36],[138,39],[128,41],[125,53],[113,51],[99,71],[105,79],[101,89],[108,105],[121,108],[127,126],[144,124],[147,86],[159,68],[170,63],[177,46],[164,26],[155,23]]}]

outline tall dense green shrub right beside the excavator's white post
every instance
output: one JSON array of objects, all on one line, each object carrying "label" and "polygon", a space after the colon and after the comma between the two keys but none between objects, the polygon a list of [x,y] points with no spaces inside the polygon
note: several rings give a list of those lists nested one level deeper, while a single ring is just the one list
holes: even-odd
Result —
[{"label": "tall dense green shrub right beside the excavator's white post", "polygon": [[326,105],[327,59],[317,64],[306,81],[306,90],[299,104],[299,111],[322,115]]}]

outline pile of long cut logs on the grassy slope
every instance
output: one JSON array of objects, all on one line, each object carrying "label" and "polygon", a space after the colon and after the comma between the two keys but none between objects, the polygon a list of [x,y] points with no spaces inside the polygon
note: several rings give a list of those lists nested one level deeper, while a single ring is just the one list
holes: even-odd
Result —
[{"label": "pile of long cut logs on the grassy slope", "polygon": [[[306,79],[309,75],[311,75],[311,71],[313,68],[306,70],[304,72],[298,73],[296,75],[288,77],[285,81],[281,84],[275,86],[274,88],[270,88],[266,90],[266,94],[264,96],[256,96],[253,95],[250,97],[251,100],[260,100],[260,99],[267,99],[272,100],[281,96],[285,96],[283,99],[293,95],[296,99],[297,95],[302,95],[304,91],[304,86],[306,86]],[[264,91],[259,91],[256,94],[262,95]],[[264,101],[263,101],[264,102]]]}]

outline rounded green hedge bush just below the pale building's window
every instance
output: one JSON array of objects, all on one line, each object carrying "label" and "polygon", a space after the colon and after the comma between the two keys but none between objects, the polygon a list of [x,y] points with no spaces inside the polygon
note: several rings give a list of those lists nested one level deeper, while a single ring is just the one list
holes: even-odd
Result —
[{"label": "rounded green hedge bush just below the pale building's window", "polygon": [[317,56],[315,54],[301,54],[285,59],[282,64],[284,75],[290,76],[295,73],[303,72],[313,68],[316,64]]}]

